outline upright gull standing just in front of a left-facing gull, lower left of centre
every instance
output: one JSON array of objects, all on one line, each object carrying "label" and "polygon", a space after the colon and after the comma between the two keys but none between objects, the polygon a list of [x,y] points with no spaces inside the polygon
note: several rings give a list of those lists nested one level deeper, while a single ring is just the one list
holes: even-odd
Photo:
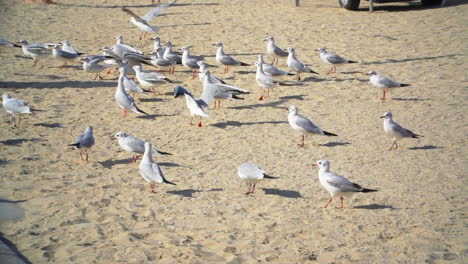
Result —
[{"label": "upright gull standing just in front of a left-facing gull, lower left of centre", "polygon": [[151,146],[151,143],[145,142],[145,152],[140,162],[140,174],[145,181],[150,183],[151,192],[155,192],[154,186],[156,183],[176,185],[175,183],[166,180],[161,168],[156,162],[154,162],[152,154],[153,147]]}]

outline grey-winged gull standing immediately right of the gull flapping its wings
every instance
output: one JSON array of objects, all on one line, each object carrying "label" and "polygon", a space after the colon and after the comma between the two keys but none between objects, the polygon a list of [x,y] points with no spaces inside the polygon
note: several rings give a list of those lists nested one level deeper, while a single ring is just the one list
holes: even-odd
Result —
[{"label": "grey-winged gull standing immediately right of the gull flapping its wings", "polygon": [[[205,78],[203,80],[203,91],[200,95],[200,99],[202,99],[207,105],[210,105],[213,99],[215,100],[215,105],[213,109],[220,109],[221,108],[221,99],[243,99],[238,97],[239,94],[249,94],[250,92],[233,86],[226,83],[222,83],[213,77],[211,73],[207,70],[203,72]],[[218,107],[216,107],[216,105]]]}]

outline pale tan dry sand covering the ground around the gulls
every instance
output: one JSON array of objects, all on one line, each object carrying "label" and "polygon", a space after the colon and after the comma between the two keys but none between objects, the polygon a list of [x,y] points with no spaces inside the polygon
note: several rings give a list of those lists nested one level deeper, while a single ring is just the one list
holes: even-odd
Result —
[{"label": "pale tan dry sand covering the ground around the gulls", "polygon": [[[0,1],[0,35],[30,43],[69,40],[86,54],[99,54],[121,34],[139,31],[120,10],[137,14],[150,0],[58,0],[61,5]],[[252,93],[209,110],[204,127],[190,126],[174,84],[162,95],[142,97],[150,116],[122,111],[114,100],[116,75],[92,80],[77,61],[47,58],[31,68],[20,49],[0,47],[0,91],[43,111],[12,128],[0,122],[0,197],[18,203],[25,216],[1,221],[2,236],[32,263],[467,263],[467,66],[468,5],[445,8],[419,3],[377,5],[376,12],[350,12],[336,0],[179,0],[151,24],[177,47],[192,45],[215,65],[213,43],[253,63],[271,34],[296,48],[320,75],[275,87],[258,101],[255,66],[214,74]],[[358,64],[325,75],[315,49],[330,50]],[[270,61],[270,58],[267,58]],[[280,68],[286,69],[285,60]],[[365,75],[370,70],[410,87],[381,102]],[[182,67],[168,76],[201,93]],[[306,137],[287,123],[290,105],[339,137]],[[398,150],[383,134],[384,112],[424,137],[405,139]],[[67,147],[88,125],[96,145],[90,161]],[[124,130],[173,156],[157,156],[168,180],[149,184],[130,166],[131,155],[109,137]],[[337,209],[321,208],[329,194],[312,167],[329,159],[331,169],[379,191],[357,194]],[[244,193],[237,167],[253,162],[279,179]]]}]

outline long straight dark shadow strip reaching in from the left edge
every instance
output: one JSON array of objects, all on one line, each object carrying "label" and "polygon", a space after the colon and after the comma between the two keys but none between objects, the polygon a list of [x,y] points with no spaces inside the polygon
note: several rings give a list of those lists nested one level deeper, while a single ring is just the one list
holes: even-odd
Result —
[{"label": "long straight dark shadow strip reaching in from the left edge", "polygon": [[117,87],[116,82],[99,81],[65,81],[65,82],[0,82],[0,88],[100,88]]}]

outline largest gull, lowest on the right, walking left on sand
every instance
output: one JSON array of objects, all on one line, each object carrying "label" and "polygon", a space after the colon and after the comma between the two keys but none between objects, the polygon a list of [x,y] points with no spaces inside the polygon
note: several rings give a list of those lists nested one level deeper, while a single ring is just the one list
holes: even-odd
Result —
[{"label": "largest gull, lowest on the right, walking left on sand", "polygon": [[331,172],[330,161],[328,160],[319,160],[317,163],[313,164],[313,166],[319,167],[320,184],[330,193],[331,196],[330,200],[323,208],[327,208],[327,206],[333,201],[334,197],[340,196],[341,207],[338,208],[343,208],[343,196],[351,196],[356,192],[368,193],[377,191],[362,188],[361,185],[353,183],[345,177]]}]

